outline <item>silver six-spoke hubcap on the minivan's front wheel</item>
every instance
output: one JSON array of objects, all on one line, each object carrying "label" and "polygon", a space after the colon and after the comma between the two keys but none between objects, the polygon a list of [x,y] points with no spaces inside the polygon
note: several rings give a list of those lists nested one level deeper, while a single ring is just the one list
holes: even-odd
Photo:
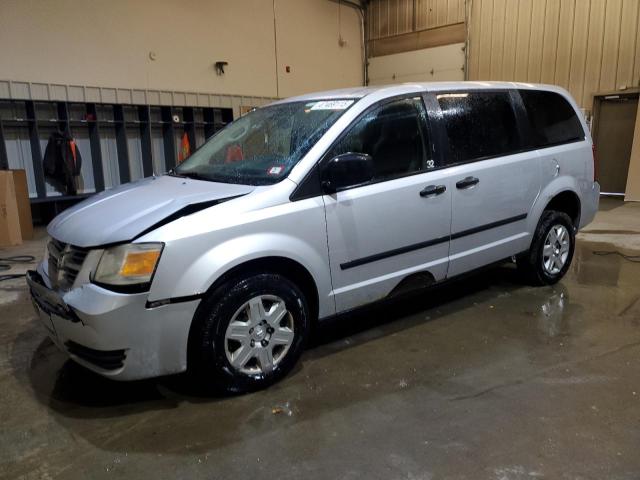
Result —
[{"label": "silver six-spoke hubcap on the minivan's front wheel", "polygon": [[260,295],[231,318],[224,338],[227,360],[249,375],[273,370],[293,344],[293,317],[280,297]]}]

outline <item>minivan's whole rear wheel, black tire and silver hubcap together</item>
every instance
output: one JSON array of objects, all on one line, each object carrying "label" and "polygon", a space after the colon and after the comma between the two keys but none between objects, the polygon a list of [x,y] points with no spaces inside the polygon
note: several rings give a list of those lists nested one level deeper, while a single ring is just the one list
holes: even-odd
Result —
[{"label": "minivan's whole rear wheel, black tire and silver hubcap together", "polygon": [[552,285],[569,270],[575,241],[569,216],[547,210],[538,223],[531,248],[517,258],[518,269],[533,285]]}]

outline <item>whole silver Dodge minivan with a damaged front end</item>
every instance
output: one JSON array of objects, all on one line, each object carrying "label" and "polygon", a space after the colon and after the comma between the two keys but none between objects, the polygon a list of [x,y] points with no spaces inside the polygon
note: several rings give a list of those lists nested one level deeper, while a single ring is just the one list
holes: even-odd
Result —
[{"label": "whole silver Dodge minivan with a damaged front end", "polygon": [[48,226],[27,281],[51,339],[113,379],[282,378],[322,319],[504,259],[557,282],[597,210],[561,88],[429,83],[304,95],[229,124],[166,175]]}]

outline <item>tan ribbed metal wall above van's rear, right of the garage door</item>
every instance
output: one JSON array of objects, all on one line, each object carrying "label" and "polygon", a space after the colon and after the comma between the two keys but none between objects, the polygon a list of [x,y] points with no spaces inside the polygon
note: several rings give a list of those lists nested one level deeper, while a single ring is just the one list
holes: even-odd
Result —
[{"label": "tan ribbed metal wall above van's rear, right of the garage door", "polygon": [[640,0],[473,0],[470,80],[567,88],[592,95],[640,84]]}]

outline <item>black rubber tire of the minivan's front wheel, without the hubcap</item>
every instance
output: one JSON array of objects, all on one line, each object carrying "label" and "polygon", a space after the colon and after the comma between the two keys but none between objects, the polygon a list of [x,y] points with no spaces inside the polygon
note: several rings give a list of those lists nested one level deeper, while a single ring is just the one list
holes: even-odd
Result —
[{"label": "black rubber tire of the minivan's front wheel, without the hubcap", "polygon": [[[284,301],[291,315],[288,318],[293,324],[293,341],[272,369],[246,373],[230,363],[225,333],[234,314],[250,299],[261,295]],[[294,367],[306,344],[309,326],[307,301],[289,279],[274,273],[236,277],[207,295],[198,307],[189,335],[189,371],[201,386],[218,391],[246,393],[266,388]]]}]

